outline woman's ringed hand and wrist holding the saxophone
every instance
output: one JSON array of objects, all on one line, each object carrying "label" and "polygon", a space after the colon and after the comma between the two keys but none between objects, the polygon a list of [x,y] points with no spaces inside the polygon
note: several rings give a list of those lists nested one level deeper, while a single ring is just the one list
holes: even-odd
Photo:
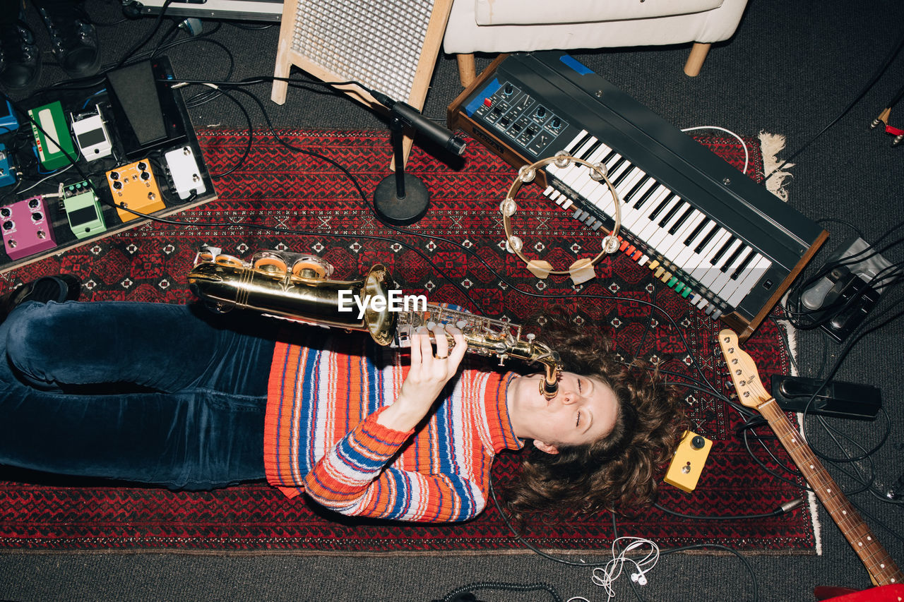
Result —
[{"label": "woman's ringed hand and wrist holding the saxophone", "polygon": [[[446,333],[454,340],[452,349]],[[465,357],[465,336],[455,326],[434,326],[437,353],[433,353],[428,330],[419,326],[411,336],[411,367],[401,384],[399,397],[385,409],[377,422],[394,430],[408,431],[427,416],[433,402],[446,383],[458,372],[458,365]]]}]

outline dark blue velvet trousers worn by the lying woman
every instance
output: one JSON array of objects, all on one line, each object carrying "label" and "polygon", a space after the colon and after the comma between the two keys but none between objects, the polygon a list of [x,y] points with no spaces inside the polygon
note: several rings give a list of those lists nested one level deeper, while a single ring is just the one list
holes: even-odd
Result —
[{"label": "dark blue velvet trousers worn by the lying woman", "polygon": [[0,325],[0,465],[211,489],[264,477],[278,320],[26,303]]}]

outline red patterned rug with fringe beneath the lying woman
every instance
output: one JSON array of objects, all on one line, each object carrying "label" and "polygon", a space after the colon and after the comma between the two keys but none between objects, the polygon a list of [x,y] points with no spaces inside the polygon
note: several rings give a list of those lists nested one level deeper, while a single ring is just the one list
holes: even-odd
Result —
[{"label": "red patterned rug with fringe beneath the lying woman", "polygon": [[[315,130],[280,135],[291,146],[343,165],[368,198],[389,173],[390,144],[382,132]],[[654,280],[649,269],[619,254],[601,262],[596,279],[573,287],[562,278],[532,277],[520,260],[507,253],[497,208],[514,170],[473,141],[463,165],[453,168],[414,148],[408,171],[427,184],[431,209],[409,232],[400,233],[374,219],[342,170],[280,144],[275,136],[256,136],[244,161],[244,133],[207,131],[201,132],[200,139],[212,173],[240,164],[216,182],[219,201],[176,214],[174,218],[182,223],[144,225],[8,272],[0,276],[0,289],[66,272],[82,278],[87,300],[183,303],[191,297],[185,275],[200,244],[210,243],[241,258],[256,249],[287,248],[325,258],[336,268],[338,278],[356,279],[373,263],[382,262],[407,292],[513,321],[544,306],[566,306],[579,323],[593,320],[611,326],[623,355],[641,355],[661,362],[664,370],[695,381],[705,379],[724,392],[731,390],[715,342],[720,325]],[[699,139],[732,165],[743,163],[742,147],[734,139]],[[750,171],[761,178],[758,140],[746,141],[751,150]],[[521,211],[514,227],[525,249],[556,267],[595,255],[598,235],[546,201],[537,188],[526,186],[518,198]],[[297,232],[254,230],[246,227],[249,224]],[[745,348],[764,377],[787,371],[787,353],[772,321],[761,325]],[[739,417],[733,410],[698,390],[687,389],[685,394],[693,430],[713,439],[714,445],[697,489],[686,494],[664,484],[663,506],[705,516],[768,513],[800,496],[795,485],[767,475],[749,457],[735,437]],[[768,442],[767,447],[777,449]],[[755,451],[772,470],[781,471],[762,448]],[[777,452],[779,458],[784,457],[781,454]],[[517,467],[517,456],[504,456],[494,466],[494,478],[504,484]],[[25,483],[20,482],[25,480],[22,475],[8,470],[0,471],[0,479],[4,479],[0,480],[0,549],[5,550],[343,554],[524,550],[492,504],[473,522],[421,526],[325,515],[303,497],[288,501],[263,484],[212,493],[173,493],[53,480]],[[548,550],[607,550],[613,533],[608,513],[580,520],[544,516],[519,529],[526,541]],[[795,513],[753,521],[683,519],[652,509],[636,518],[619,517],[618,531],[653,539],[663,548],[708,542],[739,550],[810,553],[815,547],[806,505]]]}]

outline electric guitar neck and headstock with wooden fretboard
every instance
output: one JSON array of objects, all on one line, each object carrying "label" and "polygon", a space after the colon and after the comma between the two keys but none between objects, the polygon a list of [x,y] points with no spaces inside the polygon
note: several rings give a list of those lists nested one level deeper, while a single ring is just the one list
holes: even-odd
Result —
[{"label": "electric guitar neck and headstock with wooden fretboard", "polygon": [[832,516],[832,520],[870,573],[872,582],[879,586],[904,582],[904,573],[901,573],[889,553],[876,540],[870,527],[854,510],[841,487],[825,470],[804,437],[778,407],[776,400],[768,394],[759,379],[753,359],[739,348],[738,335],[729,329],[722,330],[719,333],[719,345],[728,364],[731,381],[738,391],[738,399],[748,408],[757,409],[767,419],[778,440],[813,488],[816,497],[823,503],[825,510]]}]

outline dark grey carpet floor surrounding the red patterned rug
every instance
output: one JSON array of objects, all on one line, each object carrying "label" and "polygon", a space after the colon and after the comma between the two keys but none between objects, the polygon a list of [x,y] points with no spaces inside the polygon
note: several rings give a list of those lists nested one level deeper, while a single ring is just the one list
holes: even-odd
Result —
[{"label": "dark grey carpet floor surrounding the red patterned rug", "polygon": [[[120,16],[114,2],[89,0],[88,6],[99,22],[111,23]],[[858,98],[899,42],[902,17],[904,3],[899,0],[750,0],[738,33],[712,49],[697,78],[683,74],[688,52],[683,46],[574,54],[677,127],[719,126],[739,134],[781,134],[787,140],[786,157],[811,142]],[[152,24],[153,19],[146,17],[102,27],[104,60],[118,60],[135,40],[150,32]],[[204,22],[207,30],[213,26],[212,21]],[[222,24],[212,39],[222,46],[192,42],[166,52],[179,77],[229,77],[225,50],[235,61],[232,79],[272,74],[278,28],[251,30]],[[478,69],[490,59],[478,57]],[[47,65],[43,78],[43,84],[51,84],[61,79],[61,72]],[[815,265],[820,265],[852,228],[870,241],[888,231],[886,242],[901,236],[904,145],[892,148],[890,136],[869,126],[902,85],[904,57],[899,56],[849,112],[794,159],[793,178],[786,183],[789,202],[812,219],[837,220],[825,224],[832,238]],[[454,57],[441,55],[425,114],[444,118],[447,105],[460,89]],[[267,84],[252,90],[264,100],[269,118],[278,127],[386,127],[363,107],[315,89],[291,89],[282,107],[269,102]],[[262,124],[259,109],[250,106],[250,110],[255,123]],[[896,116],[897,125],[904,127],[904,105],[897,113],[892,111],[892,121]],[[245,124],[240,111],[226,99],[193,108],[192,117],[195,127]],[[899,246],[886,255],[892,261],[904,257]],[[892,292],[880,310],[893,312],[899,300],[899,291]],[[891,424],[885,445],[871,457],[876,474],[873,488],[879,492],[893,485],[904,469],[904,400],[899,389],[904,380],[898,372],[904,360],[902,334],[901,320],[870,334],[852,349],[837,373],[839,379],[871,383],[882,390]],[[823,374],[841,353],[837,344],[818,331],[800,333],[797,349],[800,372],[814,377]],[[865,447],[879,443],[885,428],[881,419],[832,424]],[[808,426],[815,446],[835,451],[831,439],[812,420]],[[861,465],[868,467],[865,462]],[[832,472],[846,489],[854,488],[842,472]],[[880,496],[869,493],[852,494],[852,500],[862,505],[872,531],[899,565],[904,565],[901,506],[883,503]],[[743,513],[744,509],[737,511]],[[756,574],[758,599],[810,600],[817,585],[869,585],[862,564],[822,511],[820,521],[819,556],[747,557]],[[665,556],[647,577],[648,585],[639,591],[646,600],[749,600],[755,593],[747,570],[727,554]],[[563,566],[529,553],[437,558],[0,553],[0,598],[11,600],[430,600],[475,581],[545,581],[557,588],[563,599],[605,600],[603,590],[590,578],[589,568]],[[618,599],[634,598],[626,578],[617,582],[616,591]],[[481,592],[478,598],[550,599],[542,593],[494,591]]]}]

